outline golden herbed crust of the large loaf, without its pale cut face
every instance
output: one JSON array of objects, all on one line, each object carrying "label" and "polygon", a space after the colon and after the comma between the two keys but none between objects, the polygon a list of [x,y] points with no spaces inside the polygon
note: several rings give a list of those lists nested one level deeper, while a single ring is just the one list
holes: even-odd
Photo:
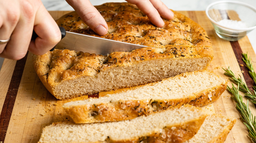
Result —
[{"label": "golden herbed crust of the large loaf, without its pale cut face", "polygon": [[107,69],[155,59],[195,58],[205,58],[203,67],[206,69],[213,58],[212,45],[203,28],[178,12],[174,11],[172,20],[164,19],[164,27],[158,28],[129,3],[106,3],[96,8],[109,26],[109,33],[104,36],[94,33],[76,12],[63,15],[56,22],[67,31],[149,47],[132,52],[114,52],[108,56],[56,49],[43,56],[34,56],[33,64],[40,80],[56,98],[60,97],[54,88],[62,81],[81,76],[95,77]]}]

